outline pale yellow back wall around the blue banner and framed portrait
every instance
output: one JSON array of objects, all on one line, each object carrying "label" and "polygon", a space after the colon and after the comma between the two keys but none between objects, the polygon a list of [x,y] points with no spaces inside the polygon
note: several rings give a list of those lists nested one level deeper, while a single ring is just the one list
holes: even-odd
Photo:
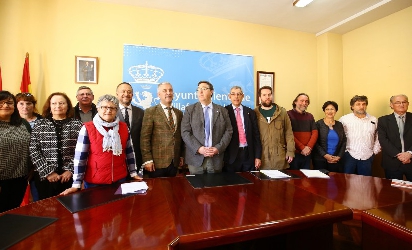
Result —
[{"label": "pale yellow back wall around the blue banner and framed portrait", "polygon": [[[39,103],[55,91],[75,101],[75,56],[99,57],[96,98],[122,81],[123,44],[252,55],[255,71],[275,72],[275,100],[287,109],[299,92],[317,99],[313,34],[263,25],[87,0],[0,1],[3,89],[19,92],[30,53]],[[5,39],[3,37],[7,37]],[[187,83],[196,86],[197,83]]]}]

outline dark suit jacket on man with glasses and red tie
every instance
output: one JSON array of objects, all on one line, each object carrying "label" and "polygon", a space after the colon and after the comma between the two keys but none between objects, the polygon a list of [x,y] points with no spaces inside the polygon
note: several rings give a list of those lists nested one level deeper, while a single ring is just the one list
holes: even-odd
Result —
[{"label": "dark suit jacket on man with glasses and red tie", "polygon": [[[243,106],[243,105],[242,105]],[[236,160],[239,149],[239,130],[236,122],[236,111],[233,105],[225,107],[229,113],[230,123],[232,124],[233,134],[229,146],[225,151],[225,163],[232,164]],[[252,109],[243,106],[243,126],[246,133],[246,141],[248,145],[249,162],[254,165],[255,158],[260,159],[262,156],[262,144],[260,143],[260,133],[257,125],[256,113]]]}]

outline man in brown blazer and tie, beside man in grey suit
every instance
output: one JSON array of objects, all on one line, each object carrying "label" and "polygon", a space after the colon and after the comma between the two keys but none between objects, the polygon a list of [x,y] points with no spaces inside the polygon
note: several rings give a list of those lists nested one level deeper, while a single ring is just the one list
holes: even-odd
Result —
[{"label": "man in brown blazer and tie, beside man in grey suit", "polygon": [[183,165],[183,141],[180,134],[182,111],[173,108],[173,87],[157,86],[160,104],[144,111],[140,147],[143,167],[150,178],[176,176]]}]

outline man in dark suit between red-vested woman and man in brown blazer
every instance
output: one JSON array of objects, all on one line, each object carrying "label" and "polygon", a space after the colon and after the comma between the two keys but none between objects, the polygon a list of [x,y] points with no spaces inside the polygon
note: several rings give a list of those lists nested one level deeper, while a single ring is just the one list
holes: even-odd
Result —
[{"label": "man in dark suit between red-vested woman and man in brown blazer", "polygon": [[[142,130],[142,121],[144,111],[141,108],[131,105],[133,98],[133,88],[127,82],[117,85],[116,96],[119,99],[119,109],[117,115],[120,121],[126,122],[132,137],[134,154],[136,157],[137,172],[142,166],[142,153],[140,152],[140,131]],[[127,111],[127,113],[126,113]]]}]

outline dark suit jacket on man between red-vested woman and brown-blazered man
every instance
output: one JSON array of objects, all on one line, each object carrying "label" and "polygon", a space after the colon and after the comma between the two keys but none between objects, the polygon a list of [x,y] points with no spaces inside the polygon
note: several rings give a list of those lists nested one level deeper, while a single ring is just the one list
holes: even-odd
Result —
[{"label": "dark suit jacket on man between red-vested woman and brown-blazered man", "polygon": [[[117,110],[117,115],[120,121],[124,122],[124,117],[121,110]],[[132,137],[134,155],[136,157],[136,169],[139,172],[142,166],[142,153],[140,152],[140,131],[142,130],[144,110],[132,105],[132,121],[130,121],[131,131],[130,135]]]}]

